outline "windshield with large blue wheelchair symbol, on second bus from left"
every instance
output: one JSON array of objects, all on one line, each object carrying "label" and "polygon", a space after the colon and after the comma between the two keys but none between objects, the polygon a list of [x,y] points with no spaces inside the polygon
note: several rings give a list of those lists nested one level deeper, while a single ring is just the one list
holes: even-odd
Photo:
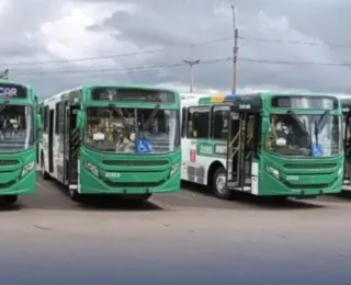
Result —
[{"label": "windshield with large blue wheelchair symbol, on second bus from left", "polygon": [[180,146],[176,110],[89,106],[86,110],[86,146],[111,152],[138,153],[147,141],[149,153],[166,153]]}]

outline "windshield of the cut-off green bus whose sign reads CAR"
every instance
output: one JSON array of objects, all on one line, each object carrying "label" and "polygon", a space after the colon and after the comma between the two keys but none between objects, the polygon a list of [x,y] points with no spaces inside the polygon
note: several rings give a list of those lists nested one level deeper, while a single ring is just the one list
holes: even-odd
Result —
[{"label": "windshield of the cut-off green bus whose sign reads CAR", "polygon": [[0,152],[25,150],[34,144],[33,109],[25,105],[1,105]]}]

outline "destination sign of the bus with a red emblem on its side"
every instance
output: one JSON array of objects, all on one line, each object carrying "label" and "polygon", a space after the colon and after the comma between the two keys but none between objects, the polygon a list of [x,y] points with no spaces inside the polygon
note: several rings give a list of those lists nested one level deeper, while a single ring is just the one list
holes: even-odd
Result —
[{"label": "destination sign of the bus with a red emblem on its side", "polygon": [[272,107],[336,110],[338,100],[326,96],[274,96]]}]

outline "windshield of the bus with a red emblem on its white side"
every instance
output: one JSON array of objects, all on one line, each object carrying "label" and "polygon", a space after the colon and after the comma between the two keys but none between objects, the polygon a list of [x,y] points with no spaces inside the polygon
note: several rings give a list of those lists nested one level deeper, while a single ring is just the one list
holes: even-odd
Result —
[{"label": "windshield of the bus with a red emblem on its white side", "polygon": [[267,149],[280,156],[330,157],[342,151],[341,116],[272,114]]}]

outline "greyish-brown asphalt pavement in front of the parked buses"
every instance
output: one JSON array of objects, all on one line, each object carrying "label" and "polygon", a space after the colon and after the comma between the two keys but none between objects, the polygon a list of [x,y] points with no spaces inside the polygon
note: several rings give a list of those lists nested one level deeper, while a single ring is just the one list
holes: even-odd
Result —
[{"label": "greyish-brown asphalt pavement in front of the parked buses", "polygon": [[0,284],[350,284],[351,198],[219,201],[203,187],[77,204],[54,181],[1,209]]}]

